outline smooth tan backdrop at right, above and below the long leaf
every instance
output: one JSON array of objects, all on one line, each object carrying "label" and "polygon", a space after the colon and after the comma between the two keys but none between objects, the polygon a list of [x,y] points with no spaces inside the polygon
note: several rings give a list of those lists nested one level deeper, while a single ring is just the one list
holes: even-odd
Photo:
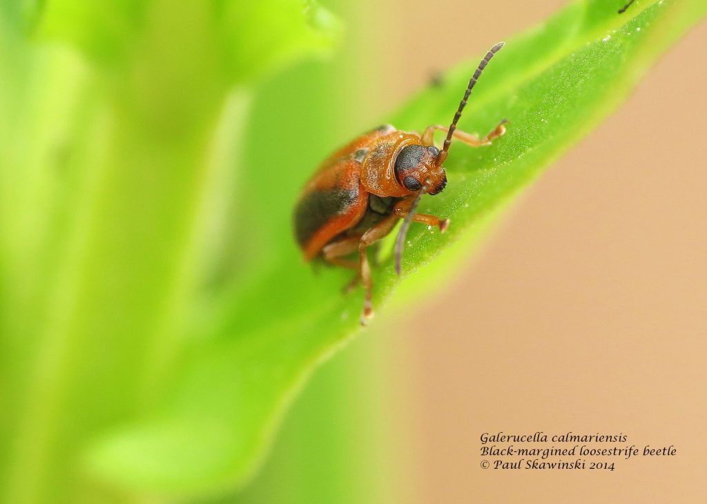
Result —
[{"label": "smooth tan backdrop at right, above and below the long leaf", "polygon": [[[390,99],[561,4],[392,8],[387,21],[406,23],[409,37],[392,48],[407,59],[390,64],[409,88]],[[443,42],[421,35],[432,21],[443,26]],[[404,325],[388,333],[387,351],[413,363],[397,375],[416,423],[404,448],[413,474],[400,483],[407,495],[436,503],[705,501],[706,47],[703,24],[527,191],[474,264],[428,300],[444,317],[381,322]],[[615,459],[614,472],[484,471],[479,435],[494,430],[623,432],[628,445],[672,444],[677,455]]]}]

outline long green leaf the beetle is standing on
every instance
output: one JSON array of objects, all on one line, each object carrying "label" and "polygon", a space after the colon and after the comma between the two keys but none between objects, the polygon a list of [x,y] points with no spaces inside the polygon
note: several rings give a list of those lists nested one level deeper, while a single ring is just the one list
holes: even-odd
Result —
[{"label": "long green leaf the beetle is standing on", "polygon": [[[420,206],[449,216],[452,226],[440,235],[413,225],[404,276],[433,278],[440,264],[430,264],[433,259],[455,242],[477,239],[484,225],[607,117],[707,11],[701,0],[640,1],[621,15],[618,7],[609,0],[579,1],[508,40],[484,71],[459,125],[484,134],[506,117],[508,133],[493,146],[452,147],[445,163],[447,189]],[[424,90],[383,121],[414,130],[448,123],[477,63],[472,59],[450,71],[440,88]],[[239,207],[234,233],[243,247],[256,242],[255,253],[239,258],[233,270],[238,281],[229,282],[234,274],[221,265],[216,308],[204,317],[208,325],[194,328],[198,337],[186,353],[185,372],[156,418],[124,426],[88,452],[89,466],[103,479],[180,496],[245,484],[312,368],[359,330],[361,292],[340,294],[350,273],[312,274],[289,229],[298,189],[316,157],[327,153],[283,142],[269,153],[252,154],[257,162],[243,175],[250,190],[240,194],[247,204]],[[445,268],[459,255],[446,254]],[[401,282],[390,254],[373,275],[375,307],[385,310]]]}]

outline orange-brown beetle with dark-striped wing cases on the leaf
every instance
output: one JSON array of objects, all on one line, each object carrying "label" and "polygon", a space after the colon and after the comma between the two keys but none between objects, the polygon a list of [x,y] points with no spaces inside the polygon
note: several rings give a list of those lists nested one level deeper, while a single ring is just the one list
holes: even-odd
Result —
[{"label": "orange-brown beetle with dark-striped wing cases on the leaf", "polygon": [[[496,54],[499,42],[481,59],[464,91],[450,127],[427,127],[423,134],[399,131],[390,124],[368,131],[329,156],[300,193],[294,211],[294,234],[306,261],[317,257],[336,266],[355,269],[354,280],[366,291],[361,324],[373,316],[373,283],[366,248],[385,237],[400,219],[403,223],[395,243],[395,269],[400,274],[402,249],[411,221],[439,228],[444,233],[450,220],[416,213],[423,194],[439,194],[447,185],[442,166],[452,138],[478,147],[491,145],[506,132],[506,119],[484,138],[457,129],[462,110],[481,71]],[[446,131],[440,150],[434,145],[435,131]],[[349,259],[358,252],[358,259]]]}]

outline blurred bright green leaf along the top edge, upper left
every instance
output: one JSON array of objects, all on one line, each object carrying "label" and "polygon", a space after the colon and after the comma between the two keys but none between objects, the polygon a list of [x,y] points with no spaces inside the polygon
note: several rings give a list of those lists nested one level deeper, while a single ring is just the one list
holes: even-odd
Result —
[{"label": "blurred bright green leaf along the top edge, upper left", "polygon": [[[40,35],[69,42],[94,61],[114,65],[141,54],[144,39],[155,35],[154,27],[164,24],[164,18],[189,27],[202,18],[216,44],[204,45],[208,38],[199,40],[193,33],[183,35],[197,42],[195,48],[216,53],[218,69],[230,84],[325,54],[340,32],[338,20],[315,0],[45,0],[31,11],[25,8],[24,16],[34,19]],[[178,44],[173,38],[170,42]]]}]

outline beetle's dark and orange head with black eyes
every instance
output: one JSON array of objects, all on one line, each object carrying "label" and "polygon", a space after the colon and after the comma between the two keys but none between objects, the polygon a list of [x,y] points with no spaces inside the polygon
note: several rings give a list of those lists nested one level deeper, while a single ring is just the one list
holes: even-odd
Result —
[{"label": "beetle's dark and orange head with black eyes", "polygon": [[422,189],[429,182],[427,194],[438,194],[447,185],[447,174],[439,165],[440,150],[435,146],[412,144],[404,146],[395,158],[395,176],[408,191]]}]

